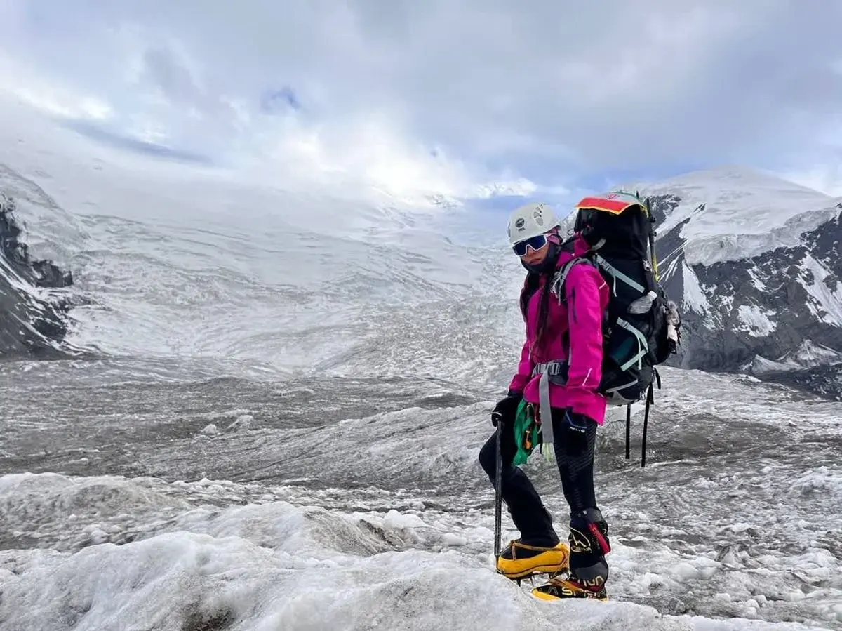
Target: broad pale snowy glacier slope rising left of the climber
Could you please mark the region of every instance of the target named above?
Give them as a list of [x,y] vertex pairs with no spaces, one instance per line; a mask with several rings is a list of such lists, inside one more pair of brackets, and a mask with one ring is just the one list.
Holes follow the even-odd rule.
[[509,355],[489,325],[517,327],[497,293],[516,291],[520,268],[474,244],[502,225],[377,192],[162,165],[49,126],[3,133],[0,190],[19,199],[33,251],[72,270],[74,345],[274,375],[478,380],[477,344]]

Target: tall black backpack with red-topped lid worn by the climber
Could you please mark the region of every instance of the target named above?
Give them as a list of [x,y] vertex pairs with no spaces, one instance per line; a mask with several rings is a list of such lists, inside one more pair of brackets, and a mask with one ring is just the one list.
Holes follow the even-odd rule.
[[577,206],[574,230],[590,250],[559,271],[558,293],[573,265],[589,262],[608,283],[610,301],[603,322],[600,393],[609,405],[626,405],[626,458],[632,403],[646,400],[641,466],[646,464],[646,430],[656,366],[677,352],[681,325],[678,307],[659,282],[655,231],[649,200],[623,191],[585,197]]

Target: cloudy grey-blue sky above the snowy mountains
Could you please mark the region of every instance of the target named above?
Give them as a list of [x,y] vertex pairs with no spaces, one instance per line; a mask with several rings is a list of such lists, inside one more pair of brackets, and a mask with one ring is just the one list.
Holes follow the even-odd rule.
[[740,163],[842,195],[840,24],[836,0],[0,0],[0,91],[302,179],[561,194]]

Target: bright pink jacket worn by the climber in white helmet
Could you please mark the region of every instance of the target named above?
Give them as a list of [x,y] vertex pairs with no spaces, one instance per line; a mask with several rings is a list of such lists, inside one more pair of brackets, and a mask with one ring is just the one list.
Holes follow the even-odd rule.
[[[584,253],[587,245],[576,242],[576,253]],[[557,267],[561,268],[572,254],[562,252]],[[593,265],[573,265],[564,283],[566,302],[558,303],[549,295],[549,311],[541,340],[536,340],[541,292],[552,282],[552,274],[542,274],[539,286],[526,309],[526,340],[520,354],[518,372],[509,384],[509,391],[523,393],[525,400],[539,404],[540,375],[532,376],[536,363],[568,361],[566,385],[550,383],[550,404],[553,408],[571,408],[598,424],[605,423],[605,397],[596,392],[602,379],[602,318],[608,307],[609,288]]]

